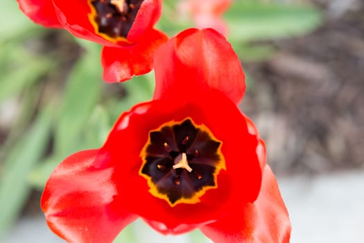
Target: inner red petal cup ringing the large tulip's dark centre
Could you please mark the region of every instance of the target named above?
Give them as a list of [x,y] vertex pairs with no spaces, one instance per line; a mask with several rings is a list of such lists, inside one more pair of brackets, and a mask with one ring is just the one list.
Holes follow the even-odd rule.
[[[187,117],[196,124],[205,124],[223,142],[227,170],[220,171],[218,188],[207,190],[200,203],[171,207],[148,192],[146,179],[139,176],[142,164],[139,155],[149,131],[167,121],[182,121]],[[182,233],[190,230],[191,225],[194,228],[207,224],[257,199],[261,183],[258,142],[259,138],[248,132],[245,117],[236,105],[221,92],[210,90],[198,101],[157,100],[135,106],[116,122],[101,150],[110,154],[119,192],[132,198],[122,201],[123,208],[149,223],[153,221],[150,225],[159,232]]]

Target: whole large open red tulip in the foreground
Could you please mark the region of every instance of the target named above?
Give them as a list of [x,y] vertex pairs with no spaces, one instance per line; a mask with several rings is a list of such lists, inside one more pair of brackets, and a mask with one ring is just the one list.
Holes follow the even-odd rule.
[[69,156],[42,195],[67,242],[112,242],[137,218],[214,242],[289,242],[291,224],[257,129],[237,103],[239,58],[214,30],[189,29],[155,53],[153,101],[124,112],[100,149]]

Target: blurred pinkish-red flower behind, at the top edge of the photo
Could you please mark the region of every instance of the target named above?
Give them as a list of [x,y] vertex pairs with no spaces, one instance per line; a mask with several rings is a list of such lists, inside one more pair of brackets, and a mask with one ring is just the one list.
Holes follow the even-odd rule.
[[180,3],[182,12],[189,12],[197,28],[214,28],[227,35],[227,24],[222,15],[232,4],[232,0],[184,0]]

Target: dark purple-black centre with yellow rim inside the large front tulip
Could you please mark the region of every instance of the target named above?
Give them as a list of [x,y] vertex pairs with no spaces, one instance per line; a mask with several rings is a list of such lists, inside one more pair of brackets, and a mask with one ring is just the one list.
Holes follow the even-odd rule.
[[191,118],[169,121],[150,131],[139,174],[147,179],[149,192],[170,206],[198,203],[217,187],[220,169],[225,169],[221,145],[207,126]]

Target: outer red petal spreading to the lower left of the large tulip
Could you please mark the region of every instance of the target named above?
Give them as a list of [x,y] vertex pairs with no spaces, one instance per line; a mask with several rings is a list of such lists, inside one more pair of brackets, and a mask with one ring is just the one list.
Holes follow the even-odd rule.
[[74,153],[55,168],[42,194],[49,227],[67,242],[112,242],[137,216],[114,201],[113,169],[94,167],[98,149]]

